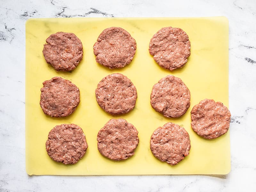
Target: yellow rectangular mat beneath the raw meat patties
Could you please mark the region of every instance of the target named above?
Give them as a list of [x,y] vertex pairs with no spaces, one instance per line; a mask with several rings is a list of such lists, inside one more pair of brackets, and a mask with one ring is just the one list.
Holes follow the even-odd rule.
[[[137,42],[132,62],[121,69],[108,69],[95,61],[93,44],[103,29],[126,29]],[[148,52],[151,37],[163,27],[182,28],[191,42],[191,56],[180,69],[159,67]],[[56,72],[42,54],[45,39],[58,31],[75,33],[81,39],[84,57],[72,72]],[[137,88],[135,108],[126,115],[111,116],[95,99],[98,82],[112,73],[122,73]],[[152,86],[167,75],[180,77],[191,92],[191,105],[180,118],[166,118],[150,105]],[[81,102],[65,118],[46,116],[40,108],[42,83],[60,76],[76,84]],[[26,23],[26,170],[29,175],[164,175],[227,174],[230,171],[229,131],[220,138],[206,140],[190,126],[190,111],[205,98],[228,106],[228,20],[205,18],[58,18],[29,19]],[[116,162],[100,155],[97,133],[111,118],[124,118],[139,131],[140,143],[135,155]],[[171,166],[155,158],[149,146],[150,136],[158,126],[173,122],[184,127],[191,140],[190,154]],[[46,153],[48,132],[59,124],[77,124],[86,136],[88,150],[76,164],[53,161]]]

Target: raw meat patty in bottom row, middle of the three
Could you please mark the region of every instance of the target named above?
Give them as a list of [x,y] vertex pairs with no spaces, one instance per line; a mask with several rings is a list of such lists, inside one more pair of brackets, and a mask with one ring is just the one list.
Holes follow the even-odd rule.
[[100,154],[120,161],[134,155],[139,144],[137,129],[124,119],[110,119],[97,136]]

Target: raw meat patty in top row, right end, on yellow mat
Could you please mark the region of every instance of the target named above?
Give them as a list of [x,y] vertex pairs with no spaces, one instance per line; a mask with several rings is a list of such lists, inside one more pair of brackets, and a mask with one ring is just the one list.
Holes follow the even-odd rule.
[[162,28],[151,38],[149,53],[163,68],[181,68],[190,55],[188,35],[180,28]]

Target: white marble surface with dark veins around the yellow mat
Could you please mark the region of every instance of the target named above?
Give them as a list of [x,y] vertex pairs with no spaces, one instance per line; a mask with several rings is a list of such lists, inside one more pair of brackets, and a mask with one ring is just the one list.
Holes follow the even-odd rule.
[[[229,20],[231,172],[224,176],[28,176],[25,21],[41,17],[198,17]],[[0,192],[253,191],[256,188],[256,1],[0,1]]]

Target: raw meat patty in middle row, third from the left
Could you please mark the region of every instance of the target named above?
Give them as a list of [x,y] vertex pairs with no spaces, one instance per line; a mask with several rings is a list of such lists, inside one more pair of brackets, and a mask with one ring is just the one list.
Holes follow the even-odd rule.
[[190,91],[180,78],[169,75],[153,86],[150,99],[157,112],[166,117],[180,117],[190,106]]

